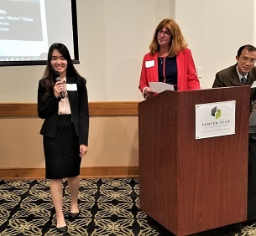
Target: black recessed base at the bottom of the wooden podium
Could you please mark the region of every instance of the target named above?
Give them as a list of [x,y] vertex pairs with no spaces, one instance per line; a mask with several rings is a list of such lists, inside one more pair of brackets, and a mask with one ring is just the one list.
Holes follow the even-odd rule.
[[[156,222],[154,218],[147,216],[147,221],[161,236],[175,236],[174,233],[171,233],[167,228]],[[189,234],[187,236],[233,236],[237,233],[241,233],[241,231],[242,223],[233,223],[220,228],[213,228],[200,233]]]

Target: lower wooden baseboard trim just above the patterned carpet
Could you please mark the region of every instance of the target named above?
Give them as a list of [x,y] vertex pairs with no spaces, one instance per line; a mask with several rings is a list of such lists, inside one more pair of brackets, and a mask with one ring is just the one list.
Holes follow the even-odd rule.
[[[138,167],[81,167],[81,178],[120,178],[138,177]],[[9,179],[43,179],[42,168],[1,168],[0,180]]]

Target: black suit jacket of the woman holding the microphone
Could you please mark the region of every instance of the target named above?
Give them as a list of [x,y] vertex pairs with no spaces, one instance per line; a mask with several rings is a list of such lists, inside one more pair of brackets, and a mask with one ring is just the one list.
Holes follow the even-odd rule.
[[[71,116],[76,135],[79,136],[79,143],[88,146],[89,111],[86,80],[79,76],[67,77],[66,84],[76,84],[77,86],[76,91],[67,90],[71,105]],[[39,118],[44,119],[44,123],[40,134],[54,138],[57,134],[60,98],[57,99],[52,90],[50,97],[44,100],[45,90],[44,80],[41,79],[38,88],[38,115]]]

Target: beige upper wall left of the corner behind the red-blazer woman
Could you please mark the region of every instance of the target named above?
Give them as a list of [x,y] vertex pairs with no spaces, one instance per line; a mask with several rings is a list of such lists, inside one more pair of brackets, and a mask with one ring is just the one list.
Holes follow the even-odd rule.
[[[138,80],[159,20],[175,0],[76,0],[81,64],[89,101],[143,100]],[[65,17],[65,16],[64,16]],[[0,67],[0,102],[36,102],[44,66]]]

